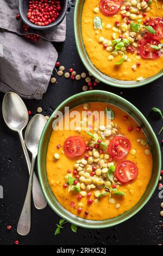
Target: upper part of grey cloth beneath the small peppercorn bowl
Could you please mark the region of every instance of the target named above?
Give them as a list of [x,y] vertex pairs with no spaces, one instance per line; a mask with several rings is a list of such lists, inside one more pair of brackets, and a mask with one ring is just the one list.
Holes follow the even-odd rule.
[[63,42],[66,36],[66,18],[59,26],[38,31],[30,28],[28,32],[23,30],[23,22],[16,19],[18,13],[18,0],[0,0],[0,28],[15,32],[19,35],[39,34],[43,39],[52,42]]

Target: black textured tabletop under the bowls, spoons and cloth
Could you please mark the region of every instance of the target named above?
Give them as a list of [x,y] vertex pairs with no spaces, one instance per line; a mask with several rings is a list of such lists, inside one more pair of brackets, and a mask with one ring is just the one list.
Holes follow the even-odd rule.
[[[80,74],[85,71],[79,59],[73,33],[74,1],[69,1],[67,12],[67,35],[63,44],[56,44],[59,52],[59,61],[66,70],[74,68]],[[55,74],[54,74],[55,76]],[[43,114],[50,115],[59,103],[67,97],[82,92],[84,81],[66,80],[57,77],[57,84],[50,84],[42,100],[26,100],[27,108],[34,114],[37,107],[43,108]],[[162,106],[163,77],[136,89],[118,89],[105,84],[99,84],[97,89],[121,95],[133,103],[151,123],[154,131],[158,133],[161,120],[152,119],[149,114],[151,108]],[[4,94],[0,94],[2,105]],[[160,203],[158,189],[147,205],[130,220],[113,228],[104,230],[86,230],[79,228],[78,233],[71,231],[70,224],[65,225],[60,235],[54,236],[57,216],[49,206],[44,210],[36,210],[32,204],[32,229],[26,237],[21,237],[16,232],[16,225],[21,213],[28,182],[26,161],[24,160],[20,141],[17,133],[12,132],[4,124],[2,107],[0,113],[0,185],[4,188],[4,199],[0,199],[0,245],[13,245],[15,240],[20,240],[21,245],[157,245],[163,243],[161,227],[163,218],[160,217]],[[163,110],[163,109],[162,109]],[[163,133],[162,133],[163,136]],[[161,143],[162,136],[159,136]],[[12,225],[12,230],[7,230],[7,225]]]

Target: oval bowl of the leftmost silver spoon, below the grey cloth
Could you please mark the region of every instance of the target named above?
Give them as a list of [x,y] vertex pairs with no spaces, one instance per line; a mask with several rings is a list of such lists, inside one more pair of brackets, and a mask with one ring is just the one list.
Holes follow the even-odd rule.
[[21,97],[14,92],[4,95],[2,113],[5,123],[13,131],[21,131],[28,123],[27,107]]

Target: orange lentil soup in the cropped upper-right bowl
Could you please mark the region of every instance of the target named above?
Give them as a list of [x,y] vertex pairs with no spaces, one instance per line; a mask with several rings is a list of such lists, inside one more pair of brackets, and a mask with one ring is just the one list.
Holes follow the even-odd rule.
[[91,62],[117,80],[142,81],[157,74],[162,70],[162,0],[113,2],[85,0],[82,36]]

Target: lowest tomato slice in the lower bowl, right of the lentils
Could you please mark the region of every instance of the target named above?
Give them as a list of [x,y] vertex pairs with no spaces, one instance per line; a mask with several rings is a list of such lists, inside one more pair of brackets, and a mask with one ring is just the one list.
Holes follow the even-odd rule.
[[119,163],[115,170],[117,179],[123,183],[136,179],[138,173],[139,170],[136,164],[130,161],[123,161]]

